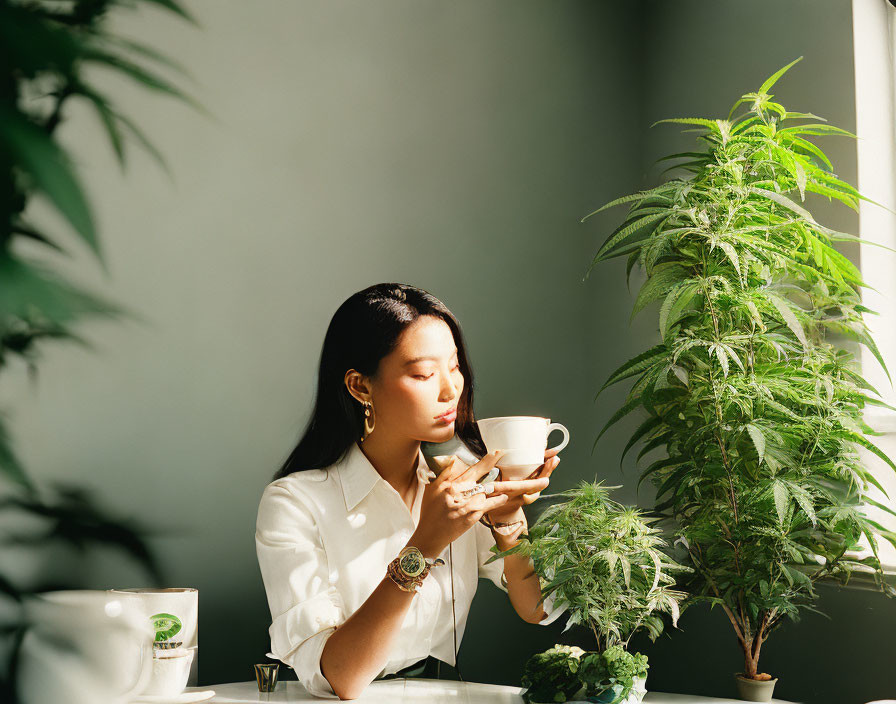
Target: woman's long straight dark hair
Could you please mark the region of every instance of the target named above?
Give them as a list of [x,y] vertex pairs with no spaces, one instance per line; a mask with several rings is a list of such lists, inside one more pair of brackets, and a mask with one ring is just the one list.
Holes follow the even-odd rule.
[[375,376],[380,360],[395,349],[401,333],[423,315],[441,318],[451,328],[464,375],[455,434],[477,456],[485,455],[485,444],[473,420],[473,370],[457,318],[423,289],[407,284],[375,284],[351,295],[333,314],[320,353],[311,419],[274,479],[328,467],[343,458],[364,429],[364,408],[348,392],[345,373],[355,369],[365,376]]

